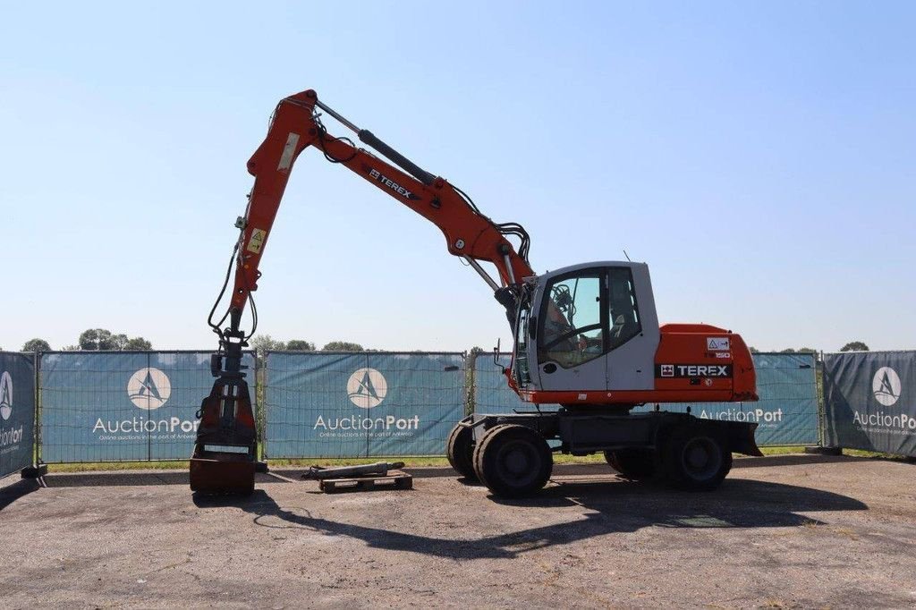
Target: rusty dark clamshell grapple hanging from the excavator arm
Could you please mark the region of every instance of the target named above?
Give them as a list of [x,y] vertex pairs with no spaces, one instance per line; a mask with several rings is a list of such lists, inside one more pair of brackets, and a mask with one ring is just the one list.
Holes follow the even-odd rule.
[[248,384],[223,374],[203,399],[191,456],[191,491],[251,494],[255,490],[257,436]]

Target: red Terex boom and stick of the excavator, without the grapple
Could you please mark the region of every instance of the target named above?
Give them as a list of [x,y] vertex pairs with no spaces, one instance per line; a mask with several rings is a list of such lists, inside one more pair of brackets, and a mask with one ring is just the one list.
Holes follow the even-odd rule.
[[[348,139],[329,135],[317,109],[324,110],[353,129],[361,141],[390,158],[401,169],[354,146]],[[528,236],[518,224],[494,223],[447,180],[420,169],[371,132],[357,128],[319,102],[318,96],[310,90],[292,95],[278,104],[267,138],[248,161],[248,172],[255,176],[255,186],[245,218],[240,222],[243,235],[235,270],[232,309],[244,309],[245,300],[257,288],[257,269],[289,180],[289,172],[300,153],[308,147],[317,148],[328,160],[344,165],[434,223],[445,236],[449,252],[472,263],[478,272],[483,271],[478,261],[493,263],[499,283],[485,273],[482,275],[495,291],[534,275],[527,260]],[[522,239],[522,254],[509,242],[507,234],[516,234]]]

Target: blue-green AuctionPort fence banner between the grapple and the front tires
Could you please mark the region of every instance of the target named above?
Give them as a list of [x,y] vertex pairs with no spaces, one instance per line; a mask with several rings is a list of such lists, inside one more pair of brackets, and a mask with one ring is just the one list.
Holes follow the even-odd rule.
[[463,354],[267,354],[270,458],[442,455],[463,417]]

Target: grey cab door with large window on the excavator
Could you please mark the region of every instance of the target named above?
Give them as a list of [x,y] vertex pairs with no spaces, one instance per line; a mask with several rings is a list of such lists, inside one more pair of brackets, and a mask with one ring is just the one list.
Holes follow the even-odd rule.
[[535,324],[540,389],[607,389],[605,342],[609,329],[605,267],[545,278]]

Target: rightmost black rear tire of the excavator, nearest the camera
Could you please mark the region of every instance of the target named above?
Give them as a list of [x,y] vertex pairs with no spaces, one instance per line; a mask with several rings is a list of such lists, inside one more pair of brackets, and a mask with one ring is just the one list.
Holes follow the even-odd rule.
[[685,491],[712,491],[732,469],[732,453],[709,426],[692,424],[671,430],[660,451],[665,477]]

